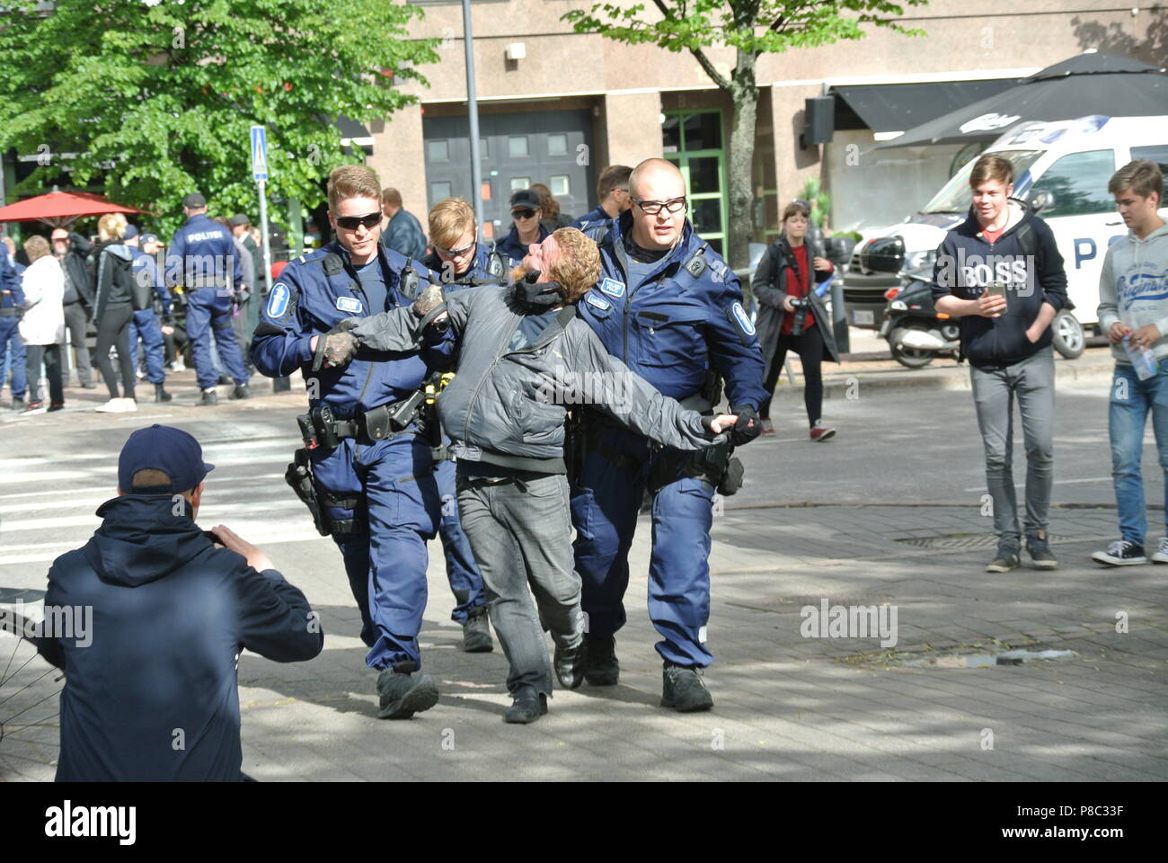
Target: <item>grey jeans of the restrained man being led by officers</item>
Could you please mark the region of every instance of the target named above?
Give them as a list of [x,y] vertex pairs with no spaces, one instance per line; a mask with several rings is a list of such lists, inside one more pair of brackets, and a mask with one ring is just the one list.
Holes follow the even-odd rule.
[[559,648],[575,648],[584,637],[566,477],[496,482],[460,470],[458,512],[482,572],[491,622],[510,663],[507,691],[514,696],[534,688],[550,696],[543,630],[551,631]]

